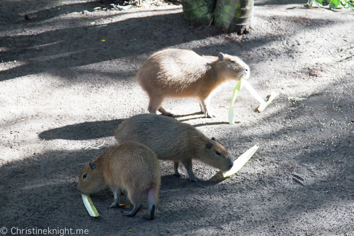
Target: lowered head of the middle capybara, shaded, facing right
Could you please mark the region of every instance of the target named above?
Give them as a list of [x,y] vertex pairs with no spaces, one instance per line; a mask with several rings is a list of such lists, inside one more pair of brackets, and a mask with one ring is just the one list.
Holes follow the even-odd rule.
[[223,145],[217,143],[215,138],[205,142],[204,147],[197,151],[196,158],[223,171],[230,170],[234,165],[226,149]]

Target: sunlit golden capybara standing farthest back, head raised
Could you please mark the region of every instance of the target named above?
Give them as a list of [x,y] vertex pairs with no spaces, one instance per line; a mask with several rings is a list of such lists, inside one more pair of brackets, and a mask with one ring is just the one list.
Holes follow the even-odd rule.
[[250,75],[249,67],[238,57],[219,53],[218,57],[199,56],[191,50],[166,49],[150,56],[139,69],[137,82],[150,98],[148,110],[173,114],[161,107],[165,98],[194,97],[205,117],[210,93],[220,84]]

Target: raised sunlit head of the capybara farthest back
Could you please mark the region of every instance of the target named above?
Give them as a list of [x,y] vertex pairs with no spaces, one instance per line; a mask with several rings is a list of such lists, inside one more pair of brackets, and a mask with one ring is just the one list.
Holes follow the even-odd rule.
[[248,79],[250,75],[249,67],[240,58],[228,54],[219,53],[218,70],[228,79],[240,81],[241,78]]

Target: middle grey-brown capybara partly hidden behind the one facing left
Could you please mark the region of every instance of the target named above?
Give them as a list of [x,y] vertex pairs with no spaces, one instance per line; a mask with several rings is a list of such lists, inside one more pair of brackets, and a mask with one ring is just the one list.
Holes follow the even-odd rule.
[[207,138],[192,125],[168,116],[140,114],[130,117],[119,124],[115,138],[120,144],[137,141],[151,148],[158,159],[173,161],[177,176],[181,176],[179,166],[182,162],[190,181],[201,181],[193,174],[192,159],[220,170],[230,170],[234,164],[226,149],[214,138]]

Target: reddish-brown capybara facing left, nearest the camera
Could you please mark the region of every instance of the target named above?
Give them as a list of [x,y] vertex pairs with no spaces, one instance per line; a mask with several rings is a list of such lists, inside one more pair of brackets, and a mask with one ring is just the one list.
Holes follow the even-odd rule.
[[114,203],[119,206],[119,194],[126,190],[134,205],[126,216],[135,216],[142,206],[142,194],[148,195],[148,219],[154,219],[155,203],[161,183],[160,164],[156,154],[143,144],[127,141],[108,148],[96,160],[90,162],[81,172],[77,190],[81,194],[93,194],[111,187]]

